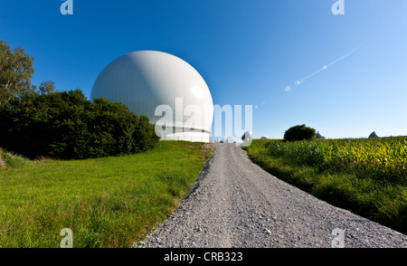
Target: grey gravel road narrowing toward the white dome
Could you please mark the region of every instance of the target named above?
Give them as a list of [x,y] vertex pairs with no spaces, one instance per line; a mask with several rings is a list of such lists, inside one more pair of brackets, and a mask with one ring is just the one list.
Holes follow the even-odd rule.
[[134,246],[405,248],[407,236],[271,176],[241,147],[216,144],[175,214]]

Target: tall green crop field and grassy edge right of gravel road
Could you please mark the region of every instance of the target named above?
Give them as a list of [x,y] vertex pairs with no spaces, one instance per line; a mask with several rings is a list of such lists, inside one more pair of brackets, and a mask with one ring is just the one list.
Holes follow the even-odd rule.
[[[255,139],[246,150],[255,164],[289,184],[407,233],[405,143],[405,138],[296,143]],[[384,146],[388,150],[377,150]],[[368,147],[372,149],[361,151]]]

